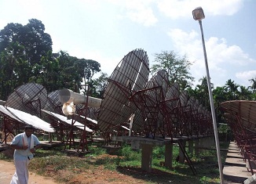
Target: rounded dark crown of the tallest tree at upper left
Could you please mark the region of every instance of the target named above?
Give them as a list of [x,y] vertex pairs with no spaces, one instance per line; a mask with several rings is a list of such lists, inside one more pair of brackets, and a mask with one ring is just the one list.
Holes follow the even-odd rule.
[[45,33],[45,26],[40,20],[28,20],[27,25],[20,23],[8,23],[0,31],[0,52],[17,42],[24,46],[24,54],[28,62],[33,66],[45,56],[48,51],[52,51],[52,39]]

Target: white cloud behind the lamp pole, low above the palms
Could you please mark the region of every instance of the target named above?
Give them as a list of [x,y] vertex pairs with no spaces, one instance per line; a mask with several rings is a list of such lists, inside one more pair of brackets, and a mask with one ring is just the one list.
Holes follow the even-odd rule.
[[[199,34],[196,31],[185,32],[180,29],[170,30],[167,34],[177,52],[188,56],[191,62],[195,62],[191,67],[191,73],[196,78],[196,82],[206,76],[203,45]],[[254,72],[247,74],[240,72],[240,70],[249,70],[256,60],[251,59],[239,46],[228,45],[225,38],[216,37],[205,40],[205,44],[210,76],[213,81],[222,81],[222,84],[214,85],[224,85],[229,78],[240,84],[253,77]],[[246,84],[248,85],[248,82]]]

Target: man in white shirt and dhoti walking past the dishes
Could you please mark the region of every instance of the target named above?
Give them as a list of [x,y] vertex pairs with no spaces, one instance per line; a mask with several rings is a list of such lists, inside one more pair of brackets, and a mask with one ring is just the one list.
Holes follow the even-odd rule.
[[13,160],[16,171],[10,184],[27,184],[28,183],[28,164],[33,158],[35,150],[40,148],[38,138],[32,134],[33,126],[25,126],[25,132],[16,135],[11,143],[14,150]]

